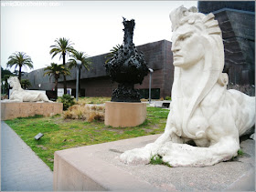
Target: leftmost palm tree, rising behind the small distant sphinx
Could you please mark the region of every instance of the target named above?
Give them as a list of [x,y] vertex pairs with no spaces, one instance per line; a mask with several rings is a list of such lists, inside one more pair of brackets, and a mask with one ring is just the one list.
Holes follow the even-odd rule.
[[28,66],[30,69],[33,68],[33,62],[31,60],[31,57],[27,56],[26,53],[24,52],[16,52],[12,56],[9,56],[8,59],[9,59],[7,62],[8,67],[12,67],[12,66],[19,67],[18,68],[19,81],[21,80],[21,67],[25,66],[27,68]]

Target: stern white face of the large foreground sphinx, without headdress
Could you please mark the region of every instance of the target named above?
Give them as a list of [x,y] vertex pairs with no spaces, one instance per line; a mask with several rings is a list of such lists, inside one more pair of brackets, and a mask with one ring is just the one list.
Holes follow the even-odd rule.
[[173,33],[172,51],[174,66],[188,68],[204,58],[204,38],[194,25],[184,24]]

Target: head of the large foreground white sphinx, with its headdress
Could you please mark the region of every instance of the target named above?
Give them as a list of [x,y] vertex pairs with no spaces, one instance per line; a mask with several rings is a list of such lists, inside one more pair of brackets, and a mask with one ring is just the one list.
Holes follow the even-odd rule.
[[196,7],[187,9],[180,6],[171,12],[170,19],[174,66],[189,67],[204,60],[204,69],[213,67],[222,71],[224,49],[219,23],[214,20],[214,15],[197,13]]

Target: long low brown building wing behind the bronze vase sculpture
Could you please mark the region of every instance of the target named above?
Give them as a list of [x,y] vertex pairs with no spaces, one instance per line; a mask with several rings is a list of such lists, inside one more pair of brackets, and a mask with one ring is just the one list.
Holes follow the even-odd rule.
[[[138,51],[143,52],[144,60],[149,68],[154,70],[152,75],[152,98],[171,96],[174,66],[171,51],[172,43],[166,40],[157,41],[145,45],[136,46]],[[112,83],[106,74],[105,63],[108,54],[91,57],[91,70],[81,70],[81,96],[112,96],[112,90],[117,87]],[[71,75],[67,76],[67,86],[72,89],[72,95],[76,93],[76,68],[70,71]],[[25,75],[32,86],[30,89],[53,90],[54,78],[43,76],[44,69],[37,69]],[[40,87],[38,86],[40,84]],[[63,87],[63,78],[59,79],[59,88]],[[142,98],[148,97],[149,75],[144,77],[142,85],[135,85],[139,89]]]

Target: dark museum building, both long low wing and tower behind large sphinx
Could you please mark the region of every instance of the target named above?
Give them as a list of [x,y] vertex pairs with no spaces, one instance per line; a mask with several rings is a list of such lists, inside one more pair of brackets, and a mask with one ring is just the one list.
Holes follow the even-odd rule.
[[[229,83],[238,85],[255,85],[255,3],[254,2],[198,2],[198,11],[204,14],[213,13],[219,21],[225,48],[225,66],[223,72],[228,73]],[[152,74],[152,98],[171,96],[174,79],[172,43],[161,40],[136,46],[143,52],[144,60]],[[81,96],[112,96],[117,87],[106,74],[103,66],[107,54],[91,57],[90,71],[81,70]],[[67,87],[71,95],[76,93],[76,68],[67,76]],[[54,78],[43,76],[44,69],[32,71],[27,78],[32,86],[29,89],[47,90],[47,95],[54,95]],[[40,85],[40,86],[38,86]],[[63,87],[63,77],[59,79],[59,88]],[[149,75],[144,77],[142,85],[135,85],[142,98],[148,98]]]

